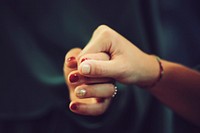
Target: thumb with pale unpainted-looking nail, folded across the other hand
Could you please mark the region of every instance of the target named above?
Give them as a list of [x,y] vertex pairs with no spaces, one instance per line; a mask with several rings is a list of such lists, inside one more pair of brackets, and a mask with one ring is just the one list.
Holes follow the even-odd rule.
[[118,70],[113,60],[86,60],[82,62],[78,71],[80,74],[87,77],[110,77],[115,78],[118,75]]

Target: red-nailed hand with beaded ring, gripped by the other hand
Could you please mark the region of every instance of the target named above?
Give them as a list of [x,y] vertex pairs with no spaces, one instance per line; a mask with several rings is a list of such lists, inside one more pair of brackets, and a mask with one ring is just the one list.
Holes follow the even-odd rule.
[[[113,79],[89,78],[80,75],[76,57],[81,49],[72,49],[66,54],[64,75],[70,92],[71,111],[82,115],[100,115],[108,108],[114,94]],[[90,54],[90,60],[109,60],[107,54]]]

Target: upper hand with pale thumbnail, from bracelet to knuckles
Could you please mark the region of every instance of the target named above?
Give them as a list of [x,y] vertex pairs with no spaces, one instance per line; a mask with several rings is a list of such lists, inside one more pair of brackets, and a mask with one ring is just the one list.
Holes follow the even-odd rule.
[[[110,60],[87,60],[90,54],[105,52]],[[159,65],[155,57],[150,56],[125,39],[111,28],[98,27],[78,56],[79,73],[87,77],[111,77],[121,83],[148,86],[155,82],[159,74]]]

